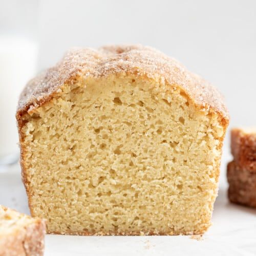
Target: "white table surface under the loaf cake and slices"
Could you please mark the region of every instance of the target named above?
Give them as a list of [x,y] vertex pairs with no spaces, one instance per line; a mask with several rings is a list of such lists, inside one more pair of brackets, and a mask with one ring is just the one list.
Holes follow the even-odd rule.
[[[226,163],[222,159],[219,196],[212,226],[201,240],[191,236],[82,237],[46,235],[45,255],[256,255],[256,209],[227,200]],[[18,165],[0,172],[0,204],[29,214]]]

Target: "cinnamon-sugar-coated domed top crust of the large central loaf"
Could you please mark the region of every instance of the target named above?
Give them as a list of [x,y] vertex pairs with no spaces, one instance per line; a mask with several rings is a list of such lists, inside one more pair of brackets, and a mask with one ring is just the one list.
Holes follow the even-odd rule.
[[72,48],[53,68],[28,82],[20,95],[17,114],[34,108],[51,97],[63,83],[83,76],[107,76],[112,73],[137,73],[175,84],[203,108],[219,113],[225,123],[228,111],[223,96],[207,81],[190,73],[177,60],[151,47],[141,45]]

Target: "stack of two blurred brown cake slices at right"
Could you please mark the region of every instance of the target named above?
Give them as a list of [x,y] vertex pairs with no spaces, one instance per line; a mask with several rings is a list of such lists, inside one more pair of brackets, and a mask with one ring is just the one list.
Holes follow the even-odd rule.
[[227,165],[230,202],[256,207],[256,129],[231,130],[231,153]]

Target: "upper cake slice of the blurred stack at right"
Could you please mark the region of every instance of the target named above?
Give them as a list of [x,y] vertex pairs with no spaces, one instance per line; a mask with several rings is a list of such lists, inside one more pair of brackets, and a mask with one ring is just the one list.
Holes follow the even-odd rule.
[[231,153],[240,169],[256,171],[256,128],[232,129]]

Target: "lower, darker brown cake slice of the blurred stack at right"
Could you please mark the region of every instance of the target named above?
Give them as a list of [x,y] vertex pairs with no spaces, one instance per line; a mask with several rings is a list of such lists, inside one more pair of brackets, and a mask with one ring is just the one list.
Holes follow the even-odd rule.
[[232,203],[256,207],[256,172],[232,161],[227,165],[228,198]]

